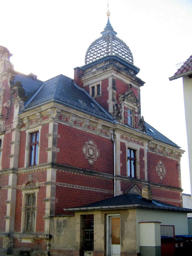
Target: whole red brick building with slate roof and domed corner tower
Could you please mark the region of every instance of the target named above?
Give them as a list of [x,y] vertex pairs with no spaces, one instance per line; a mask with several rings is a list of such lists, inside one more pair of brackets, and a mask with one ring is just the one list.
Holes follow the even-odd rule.
[[109,19],[101,34],[74,79],[16,72],[0,46],[1,253],[50,255],[50,216],[143,185],[182,206],[183,150],[141,116],[140,69]]

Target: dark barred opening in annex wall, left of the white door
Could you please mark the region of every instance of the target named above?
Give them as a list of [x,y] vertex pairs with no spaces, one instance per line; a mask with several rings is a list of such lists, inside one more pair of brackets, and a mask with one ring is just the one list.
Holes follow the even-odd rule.
[[93,215],[85,215],[83,222],[83,250],[93,251],[94,248],[94,219]]

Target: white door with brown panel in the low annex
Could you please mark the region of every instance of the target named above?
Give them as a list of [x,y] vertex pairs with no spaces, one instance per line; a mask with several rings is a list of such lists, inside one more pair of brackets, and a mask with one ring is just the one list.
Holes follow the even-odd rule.
[[121,253],[121,230],[120,216],[108,216],[108,256],[120,256]]

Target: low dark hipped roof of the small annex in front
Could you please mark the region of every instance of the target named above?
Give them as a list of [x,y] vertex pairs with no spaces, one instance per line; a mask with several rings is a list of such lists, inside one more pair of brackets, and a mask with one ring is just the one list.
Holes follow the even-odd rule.
[[179,212],[192,212],[191,209],[177,207],[172,204],[166,204],[157,200],[147,200],[138,194],[126,193],[120,196],[111,197],[92,204],[86,204],[74,208],[63,209],[64,211],[86,211],[86,210],[101,210],[101,209],[124,209],[124,208],[147,208]]

